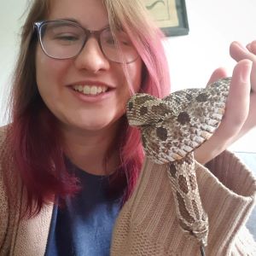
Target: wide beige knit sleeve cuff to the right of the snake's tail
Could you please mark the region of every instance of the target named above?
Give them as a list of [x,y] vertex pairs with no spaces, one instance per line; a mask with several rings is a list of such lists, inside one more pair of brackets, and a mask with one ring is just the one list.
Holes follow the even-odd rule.
[[198,164],[196,174],[201,200],[209,217],[208,250],[216,251],[216,255],[221,255],[221,251],[230,255],[235,247],[240,247],[244,252],[249,241],[247,249],[255,249],[255,242],[250,239],[252,236],[247,236],[248,231],[245,231],[245,224],[255,205],[256,180],[253,173],[229,151],[224,151],[206,166]]

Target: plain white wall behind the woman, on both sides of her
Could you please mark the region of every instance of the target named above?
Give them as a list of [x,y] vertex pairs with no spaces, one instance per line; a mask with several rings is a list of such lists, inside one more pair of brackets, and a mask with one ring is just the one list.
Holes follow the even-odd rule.
[[[0,0],[0,125],[6,122],[3,106],[15,65],[26,2]],[[226,67],[231,74],[235,61],[229,56],[230,42],[237,40],[247,44],[256,39],[256,0],[187,0],[186,4],[189,36],[170,38],[166,49],[172,90],[205,86],[217,67]],[[250,132],[232,149],[256,152],[252,141],[256,142],[256,131]]]

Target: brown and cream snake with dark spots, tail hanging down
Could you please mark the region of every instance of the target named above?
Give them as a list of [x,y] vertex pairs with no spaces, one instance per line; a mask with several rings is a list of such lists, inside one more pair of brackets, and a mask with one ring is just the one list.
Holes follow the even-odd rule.
[[205,255],[209,223],[196,180],[194,151],[221,123],[230,80],[177,90],[162,99],[136,93],[126,105],[129,125],[141,131],[146,157],[166,165],[178,223],[199,242],[201,255]]

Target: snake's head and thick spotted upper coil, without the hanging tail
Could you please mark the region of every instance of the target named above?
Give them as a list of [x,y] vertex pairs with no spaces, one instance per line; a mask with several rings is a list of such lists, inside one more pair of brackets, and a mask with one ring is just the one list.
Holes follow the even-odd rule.
[[180,160],[212,136],[224,115],[230,78],[205,89],[179,90],[158,99],[136,94],[127,103],[130,125],[142,130],[145,153],[163,164]]

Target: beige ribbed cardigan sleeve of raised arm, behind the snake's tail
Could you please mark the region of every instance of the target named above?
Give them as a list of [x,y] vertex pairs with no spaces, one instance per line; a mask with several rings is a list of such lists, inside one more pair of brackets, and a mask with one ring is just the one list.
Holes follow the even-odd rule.
[[[253,255],[255,242],[242,233],[255,202],[252,173],[229,152],[209,162],[209,169],[195,167],[209,218],[206,254]],[[179,228],[165,165],[145,159],[134,193],[116,221],[111,255],[200,255],[195,239]]]

